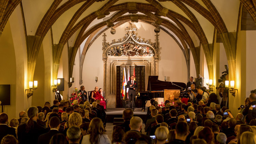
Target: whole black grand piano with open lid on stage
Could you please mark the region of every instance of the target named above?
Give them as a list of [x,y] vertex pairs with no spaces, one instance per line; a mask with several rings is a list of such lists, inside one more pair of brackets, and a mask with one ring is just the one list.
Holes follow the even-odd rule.
[[158,80],[158,76],[148,76],[147,91],[140,91],[137,100],[148,101],[157,97],[164,97],[164,90],[181,90],[186,88],[185,83],[165,82]]

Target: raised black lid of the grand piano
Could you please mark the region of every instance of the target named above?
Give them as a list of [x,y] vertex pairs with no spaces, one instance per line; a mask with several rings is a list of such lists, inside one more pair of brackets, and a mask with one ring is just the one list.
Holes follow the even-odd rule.
[[147,83],[147,91],[160,91],[160,90],[165,90],[165,89],[170,89],[170,90],[181,90],[182,88],[175,86],[178,85],[182,88],[186,88],[185,83],[180,83],[180,82],[165,82],[158,80],[158,76],[148,76],[148,83]]

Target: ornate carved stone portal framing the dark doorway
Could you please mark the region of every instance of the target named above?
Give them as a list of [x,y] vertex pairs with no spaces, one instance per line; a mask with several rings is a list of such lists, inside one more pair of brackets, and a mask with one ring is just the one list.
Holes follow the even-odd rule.
[[[106,42],[106,34],[103,34],[102,60],[104,63],[104,90],[110,101],[108,107],[116,106],[116,66],[145,66],[145,80],[149,75],[158,75],[158,34],[155,42],[143,40],[134,34],[136,28],[125,28],[127,33],[118,41]],[[147,85],[147,83],[146,83]],[[147,87],[147,86],[146,86]]]

